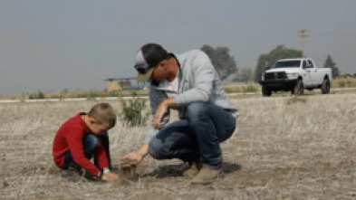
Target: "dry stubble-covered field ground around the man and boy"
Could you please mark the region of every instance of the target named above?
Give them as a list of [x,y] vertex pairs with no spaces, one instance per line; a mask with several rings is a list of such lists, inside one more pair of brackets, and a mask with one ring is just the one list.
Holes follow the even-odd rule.
[[[179,160],[146,157],[138,182],[61,176],[52,157],[62,123],[98,100],[0,104],[0,199],[356,199],[356,94],[233,97],[236,132],[221,145],[224,176],[190,186]],[[120,112],[119,100],[107,100]],[[114,166],[148,127],[110,131]]]

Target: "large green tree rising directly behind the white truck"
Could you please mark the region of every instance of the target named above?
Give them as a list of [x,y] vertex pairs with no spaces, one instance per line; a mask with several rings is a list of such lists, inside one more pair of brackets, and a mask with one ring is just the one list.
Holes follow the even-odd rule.
[[261,73],[271,67],[277,60],[298,57],[302,57],[302,51],[287,49],[283,44],[278,45],[269,53],[261,54],[258,58],[257,66],[255,67],[255,81],[258,81]]

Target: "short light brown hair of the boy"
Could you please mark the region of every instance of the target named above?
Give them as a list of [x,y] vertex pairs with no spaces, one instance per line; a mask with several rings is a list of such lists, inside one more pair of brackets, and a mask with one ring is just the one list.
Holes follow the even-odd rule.
[[116,124],[116,113],[109,103],[95,104],[88,112],[88,117],[95,119],[98,124],[108,123],[111,128]]

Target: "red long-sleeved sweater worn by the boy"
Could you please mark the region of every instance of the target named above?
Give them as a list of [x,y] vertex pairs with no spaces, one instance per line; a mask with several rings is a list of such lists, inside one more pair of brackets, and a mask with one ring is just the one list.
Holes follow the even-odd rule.
[[[53,159],[58,167],[63,167],[64,156],[67,151],[71,151],[74,161],[87,170],[91,175],[99,174],[100,169],[96,167],[88,158],[85,157],[82,139],[85,135],[91,133],[91,130],[82,120],[82,112],[67,120],[58,130],[53,141]],[[98,136],[101,141],[101,137]],[[103,148],[102,141],[99,148],[95,151],[95,157],[98,157],[99,166],[102,168],[109,167],[109,161]]]

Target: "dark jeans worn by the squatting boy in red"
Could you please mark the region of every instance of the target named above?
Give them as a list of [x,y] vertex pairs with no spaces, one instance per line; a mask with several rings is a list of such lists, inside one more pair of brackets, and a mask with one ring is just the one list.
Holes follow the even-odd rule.
[[[102,140],[102,144],[105,149],[106,156],[108,157],[108,160],[109,160],[109,167],[111,168],[111,156],[110,156],[110,150],[109,150],[109,135],[108,135],[108,133],[101,135],[101,140]],[[91,157],[95,153],[96,148],[98,148],[100,146],[101,142],[100,142],[100,139],[97,136],[95,136],[94,134],[88,134],[82,139],[82,144],[84,146],[85,157],[87,157],[88,159],[91,159]],[[65,157],[64,157],[63,169],[68,169],[72,163],[74,163],[74,160],[72,158],[72,153],[71,153],[71,151],[67,151],[67,153],[65,154]],[[96,167],[99,167],[96,157],[94,157],[94,164]]]

